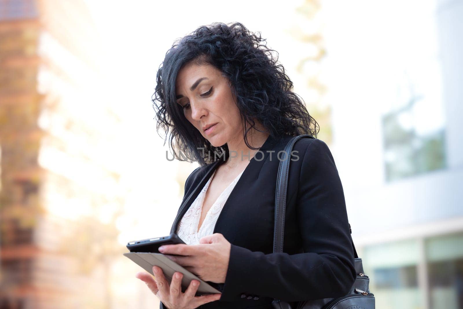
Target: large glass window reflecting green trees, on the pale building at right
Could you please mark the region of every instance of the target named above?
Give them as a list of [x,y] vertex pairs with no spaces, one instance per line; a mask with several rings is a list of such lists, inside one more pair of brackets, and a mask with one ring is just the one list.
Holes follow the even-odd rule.
[[[391,35],[390,42],[398,50],[388,59],[381,94],[387,102],[381,108],[388,182],[447,166],[437,5],[437,1],[417,1],[394,20],[394,29],[400,31]],[[408,15],[413,15],[413,25],[405,18]]]

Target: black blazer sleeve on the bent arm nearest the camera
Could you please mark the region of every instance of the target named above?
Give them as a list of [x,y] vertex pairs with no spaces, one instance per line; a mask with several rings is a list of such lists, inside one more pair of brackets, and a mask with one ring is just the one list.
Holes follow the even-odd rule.
[[303,155],[296,212],[304,253],[264,254],[232,244],[220,301],[243,293],[292,302],[349,292],[356,271],[344,192],[322,140],[310,140]]

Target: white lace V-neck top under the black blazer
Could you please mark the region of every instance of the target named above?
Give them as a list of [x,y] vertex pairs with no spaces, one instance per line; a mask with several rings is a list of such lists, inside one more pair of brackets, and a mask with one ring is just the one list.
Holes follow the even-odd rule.
[[207,188],[209,188],[209,184],[211,183],[211,180],[214,177],[214,170],[212,176],[204,185],[200,194],[196,197],[194,202],[191,204],[190,208],[188,208],[187,212],[183,215],[181,221],[177,226],[176,234],[181,238],[181,240],[183,240],[187,245],[198,245],[202,237],[213,234],[215,223],[219,218],[219,214],[222,211],[222,208],[224,207],[225,202],[228,199],[228,196],[232,192],[233,188],[239,180],[239,177],[241,177],[241,174],[243,174],[243,172],[244,170],[219,195],[217,200],[214,202],[214,204],[207,212],[206,217],[204,218],[204,221],[198,231],[198,225],[200,221],[204,197],[206,196]]

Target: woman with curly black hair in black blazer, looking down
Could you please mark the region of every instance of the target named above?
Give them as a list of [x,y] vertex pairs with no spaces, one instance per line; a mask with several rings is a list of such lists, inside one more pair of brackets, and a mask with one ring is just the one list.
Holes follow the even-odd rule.
[[181,273],[168,282],[155,266],[156,280],[137,277],[160,308],[273,308],[273,298],[343,296],[355,281],[343,188],[319,139],[294,145],[284,253],[272,253],[278,151],[293,136],[316,136],[317,123],[262,41],[240,23],[202,26],[158,70],[157,128],[171,130],[176,158],[200,163],[171,230],[187,245],[160,251],[222,292],[195,297],[193,280],[182,293]]

